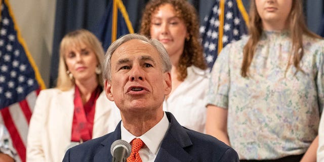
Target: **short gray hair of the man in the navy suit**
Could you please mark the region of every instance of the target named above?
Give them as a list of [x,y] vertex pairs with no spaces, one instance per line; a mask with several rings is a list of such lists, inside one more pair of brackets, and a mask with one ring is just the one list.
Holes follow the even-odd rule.
[[168,55],[167,50],[164,48],[164,46],[157,41],[156,39],[149,39],[144,35],[140,35],[140,34],[126,34],[124,36],[121,36],[120,38],[118,38],[115,42],[113,42],[108,50],[107,53],[105,55],[105,59],[104,59],[104,67],[103,67],[103,79],[104,80],[111,80],[111,56],[112,54],[115,52],[115,50],[122,44],[132,40],[132,39],[139,39],[141,41],[147,42],[150,45],[152,45],[158,52],[161,60],[162,60],[162,70],[163,72],[169,72],[171,71],[172,68],[172,64]]

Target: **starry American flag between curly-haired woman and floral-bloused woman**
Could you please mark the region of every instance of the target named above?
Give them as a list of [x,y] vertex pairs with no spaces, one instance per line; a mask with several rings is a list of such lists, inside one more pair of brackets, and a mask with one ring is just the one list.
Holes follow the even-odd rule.
[[241,0],[216,0],[204,20],[205,25],[200,26],[199,32],[211,69],[223,47],[247,34],[248,14]]

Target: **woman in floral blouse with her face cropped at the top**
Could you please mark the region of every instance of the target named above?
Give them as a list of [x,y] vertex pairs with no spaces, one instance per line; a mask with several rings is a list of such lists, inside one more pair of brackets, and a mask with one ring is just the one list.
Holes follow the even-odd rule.
[[250,35],[212,71],[206,131],[242,161],[313,161],[324,104],[324,41],[301,0],[251,1]]

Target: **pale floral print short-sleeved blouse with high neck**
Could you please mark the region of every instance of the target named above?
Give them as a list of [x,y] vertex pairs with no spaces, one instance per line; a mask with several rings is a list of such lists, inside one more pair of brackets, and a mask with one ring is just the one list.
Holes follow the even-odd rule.
[[248,38],[220,53],[209,104],[228,109],[227,133],[240,159],[303,154],[317,135],[324,104],[324,41],[303,36],[304,72],[296,73],[289,32],[263,31],[245,78],[240,69]]

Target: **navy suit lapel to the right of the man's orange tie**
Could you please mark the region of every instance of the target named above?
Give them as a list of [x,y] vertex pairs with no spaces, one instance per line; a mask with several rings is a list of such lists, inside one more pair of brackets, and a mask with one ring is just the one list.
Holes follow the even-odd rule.
[[192,145],[188,134],[171,113],[166,113],[170,128],[161,143],[155,161],[191,161],[192,158],[184,149]]

